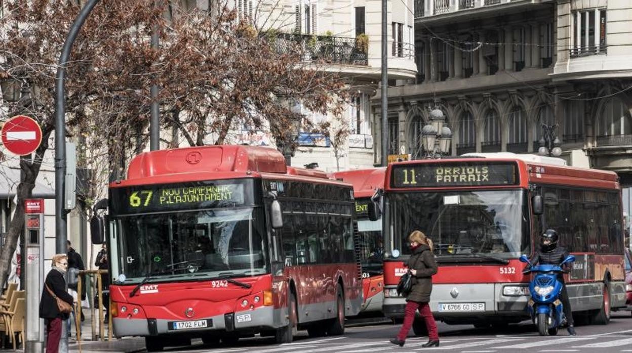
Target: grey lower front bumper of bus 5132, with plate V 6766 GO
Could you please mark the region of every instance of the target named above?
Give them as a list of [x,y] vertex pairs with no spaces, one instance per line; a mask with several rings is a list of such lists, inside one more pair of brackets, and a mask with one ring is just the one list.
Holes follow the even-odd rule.
[[[435,284],[432,286],[430,309],[435,320],[448,324],[528,320],[528,296],[504,296],[506,286],[526,287],[526,284]],[[401,319],[406,299],[392,296],[395,288],[391,285],[386,287],[385,292],[389,292],[385,293],[382,311],[387,318]]]

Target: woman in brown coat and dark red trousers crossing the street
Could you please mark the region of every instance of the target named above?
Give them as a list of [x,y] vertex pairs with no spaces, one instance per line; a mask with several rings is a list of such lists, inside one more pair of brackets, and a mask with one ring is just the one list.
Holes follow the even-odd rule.
[[412,254],[406,263],[408,271],[413,275],[413,287],[406,297],[404,309],[404,323],[396,338],[391,339],[392,344],[403,347],[408,331],[413,326],[415,311],[419,310],[428,329],[428,342],[422,347],[439,347],[439,333],[432,311],[430,311],[430,292],[432,292],[432,275],[437,273],[437,262],[432,253],[432,241],[420,230],[413,231],[408,236]]

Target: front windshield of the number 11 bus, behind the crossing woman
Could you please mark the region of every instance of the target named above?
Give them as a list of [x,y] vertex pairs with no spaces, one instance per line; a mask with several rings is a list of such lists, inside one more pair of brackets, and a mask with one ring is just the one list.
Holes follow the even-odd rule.
[[[514,258],[528,253],[526,191],[389,194],[393,248],[410,254],[408,235],[422,230],[444,258]],[[493,254],[493,255],[485,255]]]

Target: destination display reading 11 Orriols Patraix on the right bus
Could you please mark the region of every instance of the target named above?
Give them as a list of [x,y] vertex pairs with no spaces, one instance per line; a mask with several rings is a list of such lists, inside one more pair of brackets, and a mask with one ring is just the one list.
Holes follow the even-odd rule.
[[515,163],[461,162],[397,165],[392,168],[393,188],[515,185]]

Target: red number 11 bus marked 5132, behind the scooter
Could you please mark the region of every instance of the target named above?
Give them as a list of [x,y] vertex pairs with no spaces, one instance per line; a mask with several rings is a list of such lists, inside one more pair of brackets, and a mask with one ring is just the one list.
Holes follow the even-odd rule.
[[[530,277],[518,258],[533,254],[548,228],[577,259],[565,279],[578,321],[605,324],[612,308],[625,305],[623,208],[614,172],[513,153],[415,160],[388,166],[383,197],[387,317],[404,315],[396,285],[416,229],[435,244],[439,272],[430,308],[447,324],[528,320]],[[425,325],[415,322],[423,334]]]

